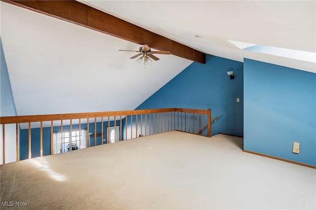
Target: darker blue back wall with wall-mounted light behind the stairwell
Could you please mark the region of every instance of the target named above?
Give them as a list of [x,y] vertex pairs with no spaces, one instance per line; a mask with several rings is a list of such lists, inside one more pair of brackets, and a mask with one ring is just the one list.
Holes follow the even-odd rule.
[[[234,71],[234,80],[227,71]],[[219,117],[212,123],[212,135],[223,132],[242,136],[243,63],[206,55],[206,64],[193,62],[136,109],[173,107],[211,108],[212,119]]]

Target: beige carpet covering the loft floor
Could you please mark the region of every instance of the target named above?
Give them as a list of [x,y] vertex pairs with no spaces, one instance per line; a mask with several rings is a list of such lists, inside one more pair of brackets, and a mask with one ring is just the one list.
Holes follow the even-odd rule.
[[170,131],[5,164],[1,209],[316,208],[315,169],[241,149]]

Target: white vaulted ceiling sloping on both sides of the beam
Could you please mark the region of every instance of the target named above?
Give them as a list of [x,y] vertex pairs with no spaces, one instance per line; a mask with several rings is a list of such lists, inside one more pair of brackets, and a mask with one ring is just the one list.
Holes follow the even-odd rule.
[[[315,62],[238,49],[228,40],[316,52],[316,1],[81,1],[206,54],[315,72]],[[133,110],[192,63],[5,2],[1,40],[18,115]],[[196,39],[195,35],[204,38]]]

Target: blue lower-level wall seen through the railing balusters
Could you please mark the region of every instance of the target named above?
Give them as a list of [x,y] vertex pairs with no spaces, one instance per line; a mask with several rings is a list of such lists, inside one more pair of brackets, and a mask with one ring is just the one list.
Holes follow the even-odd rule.
[[[116,121],[116,125],[118,126],[120,123],[119,120]],[[101,133],[101,122],[97,122],[97,133]],[[114,121],[110,121],[110,126],[114,126]],[[105,121],[103,122],[103,132],[104,132],[104,137],[106,139],[107,137],[107,127],[108,127],[108,122]],[[81,129],[86,129],[87,124],[82,123],[81,124]],[[43,156],[44,155],[49,155],[51,151],[51,132],[50,132],[50,127],[43,127]],[[79,124],[74,124],[72,126],[72,130],[78,130],[79,129]],[[63,125],[63,130],[70,130],[70,125]],[[54,126],[53,131],[61,131],[61,126]],[[88,133],[93,133],[94,134],[94,122],[89,123],[89,131]],[[90,138],[90,147],[95,146],[94,145],[94,137]],[[29,129],[21,129],[20,131],[20,160],[28,159],[29,158]],[[101,145],[101,136],[97,137],[97,143],[96,145]],[[40,156],[40,128],[32,128],[31,129],[31,153],[32,153],[32,158],[33,157],[39,157]]]

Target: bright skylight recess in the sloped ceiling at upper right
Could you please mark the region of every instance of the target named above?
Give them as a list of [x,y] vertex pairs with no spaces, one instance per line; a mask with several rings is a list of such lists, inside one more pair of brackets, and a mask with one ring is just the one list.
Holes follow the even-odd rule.
[[271,47],[266,45],[257,45],[252,43],[246,42],[239,42],[239,41],[232,41],[229,40],[231,43],[236,45],[241,50],[248,50],[257,53],[264,53],[274,56],[281,56],[284,58],[289,59],[296,59],[296,60],[304,60],[309,62],[316,63],[316,53],[307,52],[307,51],[300,51],[300,50],[292,50],[286,48],[279,48],[279,47]]

